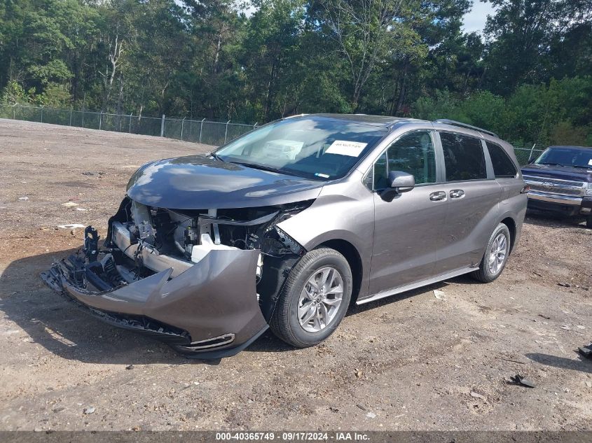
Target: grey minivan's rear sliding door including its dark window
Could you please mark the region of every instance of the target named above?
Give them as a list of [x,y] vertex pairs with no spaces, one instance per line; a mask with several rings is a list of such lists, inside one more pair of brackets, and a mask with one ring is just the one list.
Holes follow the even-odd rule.
[[444,131],[438,135],[449,200],[436,265],[436,274],[444,274],[479,265],[495,227],[502,188],[479,137]]

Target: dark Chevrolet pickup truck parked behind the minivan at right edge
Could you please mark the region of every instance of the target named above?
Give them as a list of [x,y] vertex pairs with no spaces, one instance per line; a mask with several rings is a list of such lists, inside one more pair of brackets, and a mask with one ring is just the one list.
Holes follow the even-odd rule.
[[586,218],[592,227],[592,147],[549,146],[522,175],[528,209]]

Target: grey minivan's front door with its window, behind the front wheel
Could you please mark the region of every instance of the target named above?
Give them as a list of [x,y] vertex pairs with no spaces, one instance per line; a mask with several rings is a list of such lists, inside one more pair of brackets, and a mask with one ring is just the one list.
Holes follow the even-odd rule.
[[[436,178],[434,132],[408,132],[376,160],[366,185],[373,189],[374,244],[369,292],[381,293],[432,276],[446,217],[445,186]],[[385,201],[388,171],[415,177],[415,188]]]

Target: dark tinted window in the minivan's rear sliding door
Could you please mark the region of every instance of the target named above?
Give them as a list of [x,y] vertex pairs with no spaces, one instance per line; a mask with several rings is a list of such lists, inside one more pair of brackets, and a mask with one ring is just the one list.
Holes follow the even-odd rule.
[[441,132],[446,181],[483,180],[487,178],[481,139]]

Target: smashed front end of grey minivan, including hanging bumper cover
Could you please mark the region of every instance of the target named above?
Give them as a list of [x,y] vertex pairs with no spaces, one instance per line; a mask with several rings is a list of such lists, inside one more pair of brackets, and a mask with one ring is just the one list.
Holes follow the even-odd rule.
[[42,274],[90,314],[197,358],[232,356],[268,328],[304,248],[277,226],[312,201],[245,209],[163,209],[125,197],[104,248],[84,247]]

